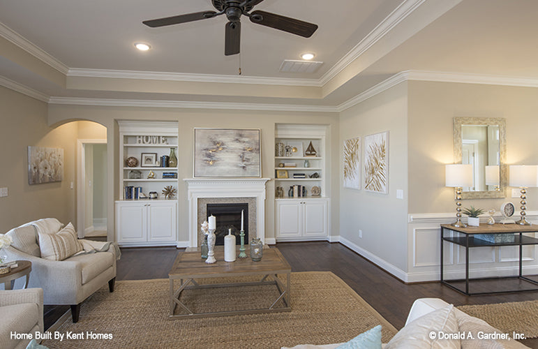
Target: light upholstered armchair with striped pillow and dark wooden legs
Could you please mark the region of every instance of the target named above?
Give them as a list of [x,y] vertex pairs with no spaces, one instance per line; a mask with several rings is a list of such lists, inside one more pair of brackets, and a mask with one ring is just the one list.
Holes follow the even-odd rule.
[[20,225],[6,235],[13,239],[4,247],[8,260],[32,262],[29,287],[43,288],[44,304],[70,305],[73,322],[84,299],[106,283],[114,291],[117,245],[77,239],[73,225],[56,218]]

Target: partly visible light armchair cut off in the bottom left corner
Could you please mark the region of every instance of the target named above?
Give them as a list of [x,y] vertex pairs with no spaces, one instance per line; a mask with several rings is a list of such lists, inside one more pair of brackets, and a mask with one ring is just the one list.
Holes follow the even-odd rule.
[[[11,338],[11,332],[21,334]],[[43,290],[0,291],[0,348],[26,348],[31,339],[27,334],[43,332]]]

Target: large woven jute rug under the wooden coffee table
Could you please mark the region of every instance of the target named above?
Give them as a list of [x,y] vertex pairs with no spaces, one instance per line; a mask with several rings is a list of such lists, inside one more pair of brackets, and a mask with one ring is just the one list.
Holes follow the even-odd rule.
[[[214,279],[211,279],[212,282]],[[244,280],[244,279],[241,279]],[[222,282],[222,279],[219,280]],[[297,344],[349,341],[382,325],[387,343],[396,329],[347,284],[331,272],[291,275],[292,311],[215,318],[169,320],[167,279],[118,281],[87,299],[76,324],[70,318],[57,332],[84,334],[84,339],[47,340],[49,348],[281,348]],[[200,281],[204,283],[204,281]],[[255,289],[250,290],[248,288]],[[182,300],[198,309],[271,304],[274,285],[186,290]],[[243,297],[239,302],[238,297]],[[281,301],[279,301],[281,302]],[[87,339],[88,332],[112,334],[112,339]]]

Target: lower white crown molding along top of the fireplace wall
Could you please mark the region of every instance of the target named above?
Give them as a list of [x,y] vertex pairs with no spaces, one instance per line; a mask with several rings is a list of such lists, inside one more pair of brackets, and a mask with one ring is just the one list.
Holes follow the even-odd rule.
[[233,102],[151,101],[136,99],[100,99],[51,97],[50,104],[100,105],[105,107],[168,107],[182,109],[268,110],[283,112],[338,112],[329,105],[292,105]]

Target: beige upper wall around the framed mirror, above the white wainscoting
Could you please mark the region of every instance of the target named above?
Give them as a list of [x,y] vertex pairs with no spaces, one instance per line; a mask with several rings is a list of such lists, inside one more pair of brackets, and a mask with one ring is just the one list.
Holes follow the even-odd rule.
[[[445,82],[409,83],[409,212],[455,212],[454,191],[444,186],[444,164],[454,163],[454,117],[507,120],[507,163],[538,164],[538,89]],[[538,189],[528,191],[528,209],[538,209]],[[463,207],[499,209],[505,199],[463,200]]]

